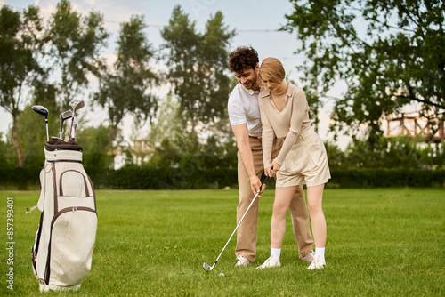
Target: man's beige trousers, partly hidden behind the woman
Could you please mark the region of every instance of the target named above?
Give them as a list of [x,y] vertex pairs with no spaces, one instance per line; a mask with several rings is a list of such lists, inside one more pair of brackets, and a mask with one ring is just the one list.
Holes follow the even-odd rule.
[[[250,147],[254,157],[255,173],[258,177],[264,170],[263,165],[263,148],[261,140],[250,138]],[[277,157],[279,149],[283,142],[282,139],[275,140],[272,148],[272,159]],[[246,213],[248,205],[254,199],[254,194],[250,188],[250,179],[247,171],[238,157],[238,185],[239,185],[239,205],[237,207],[237,224],[244,213]],[[290,203],[290,213],[292,218],[292,225],[294,227],[294,236],[296,244],[298,245],[299,257],[302,258],[306,254],[312,252],[313,237],[311,234],[311,227],[309,222],[309,213],[307,210],[306,201],[304,199],[303,186],[296,189],[294,198]],[[258,199],[246,214],[244,221],[239,225],[237,230],[237,246],[235,255],[243,256],[249,261],[255,261],[256,256],[256,228],[258,221]]]

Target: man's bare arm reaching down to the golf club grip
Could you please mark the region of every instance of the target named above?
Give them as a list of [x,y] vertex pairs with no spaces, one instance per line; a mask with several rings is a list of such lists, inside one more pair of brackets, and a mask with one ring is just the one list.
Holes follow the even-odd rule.
[[244,165],[244,168],[246,168],[247,174],[250,178],[250,188],[256,195],[260,191],[261,181],[255,173],[254,157],[252,155],[252,148],[250,148],[247,124],[232,125],[231,130],[237,139],[241,163]]

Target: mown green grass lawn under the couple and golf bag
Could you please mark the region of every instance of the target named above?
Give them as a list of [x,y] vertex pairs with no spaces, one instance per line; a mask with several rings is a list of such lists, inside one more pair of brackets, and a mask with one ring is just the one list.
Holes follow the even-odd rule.
[[[260,200],[257,261],[235,269],[232,238],[238,191],[97,193],[99,226],[93,267],[67,296],[444,296],[443,189],[327,189],[327,267],[298,260],[290,218],[279,269],[256,270],[269,257],[273,190]],[[1,191],[0,294],[36,296],[30,251],[39,221],[36,191]],[[7,289],[6,197],[14,198],[14,290]],[[225,277],[219,277],[223,272]]]

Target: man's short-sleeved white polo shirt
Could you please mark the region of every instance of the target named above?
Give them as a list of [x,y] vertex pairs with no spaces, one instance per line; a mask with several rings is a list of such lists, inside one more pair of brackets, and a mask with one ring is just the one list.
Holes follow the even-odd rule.
[[258,94],[259,91],[247,90],[244,85],[237,84],[227,104],[231,125],[247,124],[249,135],[254,137],[260,136],[262,130]]

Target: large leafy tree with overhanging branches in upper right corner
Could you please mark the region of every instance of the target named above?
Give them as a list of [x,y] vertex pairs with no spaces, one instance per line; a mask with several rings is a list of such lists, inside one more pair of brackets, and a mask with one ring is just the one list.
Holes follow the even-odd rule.
[[[308,82],[320,97],[336,81],[347,84],[336,99],[337,128],[379,133],[382,116],[417,103],[424,116],[445,109],[445,3],[440,0],[291,0],[283,28],[302,41],[298,52]],[[317,85],[317,84],[316,84]],[[306,87],[311,89],[311,85]],[[375,142],[374,140],[372,141]]]

